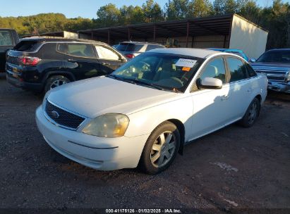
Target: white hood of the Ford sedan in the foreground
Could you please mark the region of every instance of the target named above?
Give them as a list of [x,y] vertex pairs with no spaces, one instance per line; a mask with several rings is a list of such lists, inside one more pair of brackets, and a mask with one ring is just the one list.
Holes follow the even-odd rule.
[[71,82],[49,91],[47,99],[69,111],[95,118],[104,113],[131,114],[175,99],[179,94],[109,77]]

